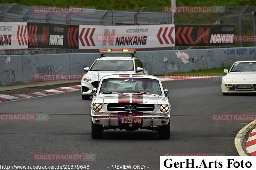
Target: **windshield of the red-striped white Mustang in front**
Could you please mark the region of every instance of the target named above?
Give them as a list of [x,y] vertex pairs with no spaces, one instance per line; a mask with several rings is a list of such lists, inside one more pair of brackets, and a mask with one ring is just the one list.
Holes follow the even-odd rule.
[[150,78],[108,78],[102,81],[99,94],[148,93],[162,95],[159,81]]

